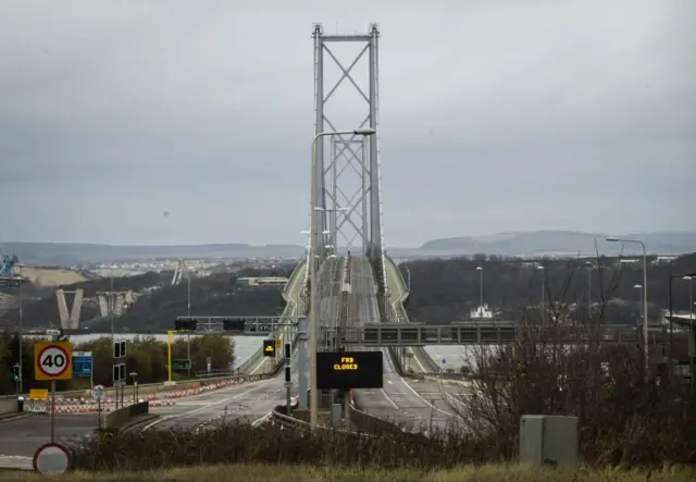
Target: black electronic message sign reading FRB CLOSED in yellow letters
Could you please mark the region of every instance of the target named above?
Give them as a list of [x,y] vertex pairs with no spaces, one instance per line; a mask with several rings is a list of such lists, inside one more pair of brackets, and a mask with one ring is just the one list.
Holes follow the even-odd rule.
[[320,390],[382,388],[382,351],[319,351]]

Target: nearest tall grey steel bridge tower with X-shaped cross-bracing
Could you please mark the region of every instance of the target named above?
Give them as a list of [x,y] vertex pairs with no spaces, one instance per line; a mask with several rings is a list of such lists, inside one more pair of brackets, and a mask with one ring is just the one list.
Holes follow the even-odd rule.
[[[340,135],[318,140],[316,184],[311,186],[316,193],[318,209],[310,213],[318,226],[312,234],[314,246],[320,259],[345,248],[369,257],[380,294],[384,295],[387,284],[378,145],[380,30],[373,23],[366,34],[326,35],[322,24],[314,24],[312,37],[314,134],[361,127],[377,131],[369,137]],[[344,51],[350,48],[355,52]],[[332,78],[331,67],[336,78]]]

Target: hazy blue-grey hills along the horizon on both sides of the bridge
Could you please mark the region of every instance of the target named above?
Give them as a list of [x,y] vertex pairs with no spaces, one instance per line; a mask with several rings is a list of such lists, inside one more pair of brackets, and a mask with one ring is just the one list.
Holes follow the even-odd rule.
[[[593,255],[595,237],[599,250],[618,255],[620,244],[606,243],[607,234],[570,231],[536,231],[499,233],[486,236],[462,236],[433,239],[421,247],[390,248],[396,257],[430,257],[457,255]],[[685,254],[696,251],[696,233],[637,233],[619,237],[642,239],[651,254]],[[302,258],[304,247],[297,245],[253,246],[241,243],[181,246],[116,246],[80,243],[0,243],[1,252],[17,255],[26,264],[79,265],[111,261],[140,261],[153,258]],[[626,245],[624,252],[638,252],[636,246]]]

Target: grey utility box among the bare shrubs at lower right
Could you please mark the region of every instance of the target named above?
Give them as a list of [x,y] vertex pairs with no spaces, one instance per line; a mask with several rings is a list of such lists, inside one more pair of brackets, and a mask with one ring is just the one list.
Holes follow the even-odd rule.
[[520,464],[533,467],[577,464],[577,417],[523,415]]

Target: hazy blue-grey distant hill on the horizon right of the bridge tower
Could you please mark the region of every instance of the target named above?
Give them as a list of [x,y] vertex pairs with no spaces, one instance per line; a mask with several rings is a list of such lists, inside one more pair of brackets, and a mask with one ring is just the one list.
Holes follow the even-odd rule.
[[[500,233],[487,236],[463,236],[430,240],[419,248],[427,254],[451,255],[594,255],[595,239],[599,252],[617,255],[621,243],[608,243],[608,234],[577,233],[571,231],[536,231],[531,233]],[[686,254],[696,251],[696,233],[634,233],[613,235],[620,238],[641,239],[650,254]],[[636,254],[641,247],[624,245],[624,252]]]

